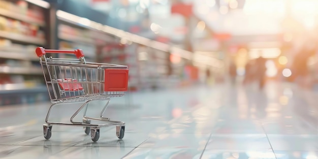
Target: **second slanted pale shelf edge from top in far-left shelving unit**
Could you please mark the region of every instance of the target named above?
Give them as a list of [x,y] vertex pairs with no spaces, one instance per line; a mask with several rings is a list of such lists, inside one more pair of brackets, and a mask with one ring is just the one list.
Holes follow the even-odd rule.
[[0,30],[0,37],[14,40],[14,41],[29,43],[29,44],[45,45],[45,40],[43,40],[43,39],[19,35],[19,34],[15,34],[15,33],[8,33],[7,31]]

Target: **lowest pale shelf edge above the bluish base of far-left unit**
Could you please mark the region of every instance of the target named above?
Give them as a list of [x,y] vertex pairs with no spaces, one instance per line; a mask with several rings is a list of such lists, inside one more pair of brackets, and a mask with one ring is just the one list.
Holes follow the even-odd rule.
[[23,83],[19,84],[0,84],[0,94],[10,93],[33,93],[33,92],[47,92],[47,87],[40,86],[27,86]]

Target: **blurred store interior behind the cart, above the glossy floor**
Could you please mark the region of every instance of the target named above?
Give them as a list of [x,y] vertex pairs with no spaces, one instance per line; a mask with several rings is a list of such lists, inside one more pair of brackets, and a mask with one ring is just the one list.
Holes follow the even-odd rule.
[[278,105],[301,94],[317,128],[317,8],[317,0],[0,0],[0,106],[49,103],[42,46],[127,65],[128,94],[227,89],[233,105],[241,89],[264,89]]

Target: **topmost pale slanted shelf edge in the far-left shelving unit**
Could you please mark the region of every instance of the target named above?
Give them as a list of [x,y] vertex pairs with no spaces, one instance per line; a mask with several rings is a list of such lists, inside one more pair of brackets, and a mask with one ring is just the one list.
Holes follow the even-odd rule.
[[20,13],[8,11],[8,10],[1,9],[1,8],[0,8],[0,15],[5,16],[5,17],[10,17],[12,19],[21,20],[21,21],[31,23],[31,24],[37,24],[39,26],[45,26],[44,21],[41,21],[41,20],[38,20],[35,18],[30,18],[26,15],[22,15]]

